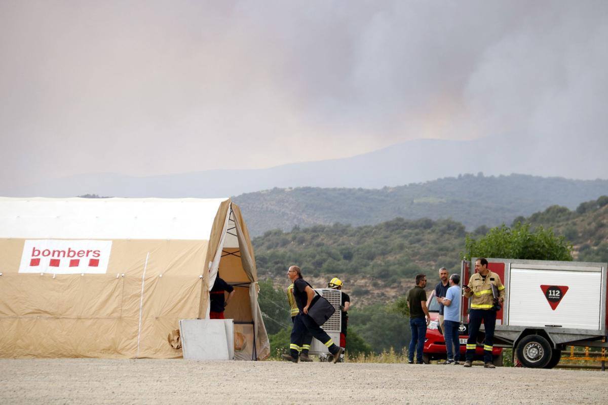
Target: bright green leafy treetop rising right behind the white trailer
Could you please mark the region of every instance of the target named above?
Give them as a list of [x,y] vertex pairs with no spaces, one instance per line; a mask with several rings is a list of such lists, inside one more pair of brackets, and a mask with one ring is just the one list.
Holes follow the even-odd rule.
[[564,236],[556,236],[552,228],[537,226],[530,231],[529,223],[517,223],[513,228],[496,226],[485,236],[465,240],[465,259],[471,257],[503,257],[505,259],[572,260],[572,245]]

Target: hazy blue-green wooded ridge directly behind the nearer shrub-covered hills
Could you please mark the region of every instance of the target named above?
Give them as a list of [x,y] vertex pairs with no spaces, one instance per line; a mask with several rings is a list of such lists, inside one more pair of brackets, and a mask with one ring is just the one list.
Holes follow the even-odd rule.
[[294,226],[373,225],[395,217],[452,219],[468,230],[510,224],[551,205],[575,209],[608,194],[608,180],[465,174],[382,189],[274,188],[234,197],[252,235]]

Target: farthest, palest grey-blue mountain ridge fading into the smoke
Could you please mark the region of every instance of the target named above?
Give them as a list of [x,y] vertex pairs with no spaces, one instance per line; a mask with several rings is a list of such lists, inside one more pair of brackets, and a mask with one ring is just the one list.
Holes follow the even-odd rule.
[[[568,157],[567,162],[570,160],[572,157]],[[145,177],[93,173],[29,184],[19,182],[14,188],[0,188],[0,195],[74,197],[95,193],[115,197],[215,198],[275,187],[379,189],[479,171],[486,175],[523,172],[583,179],[605,175],[597,163],[600,159],[586,165],[564,162],[559,156],[535,153],[522,141],[510,137],[471,141],[418,139],[348,158],[289,163],[266,169],[219,169]]]

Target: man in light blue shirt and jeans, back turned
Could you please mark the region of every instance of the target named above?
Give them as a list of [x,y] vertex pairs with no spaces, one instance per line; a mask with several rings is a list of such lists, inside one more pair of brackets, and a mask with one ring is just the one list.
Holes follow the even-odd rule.
[[[460,322],[460,276],[452,274],[449,280],[450,288],[447,289],[445,298],[441,299],[441,304],[444,305],[443,319],[444,330],[443,336],[446,339],[447,360],[443,364],[460,364],[460,340],[458,327]],[[439,299],[437,299],[439,301]],[[454,348],[452,348],[454,345]]]

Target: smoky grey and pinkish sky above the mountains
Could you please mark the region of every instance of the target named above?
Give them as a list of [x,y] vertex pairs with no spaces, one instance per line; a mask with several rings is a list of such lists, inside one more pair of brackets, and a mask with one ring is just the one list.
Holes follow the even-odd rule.
[[2,0],[0,191],[497,136],[605,178],[607,61],[603,0]]

